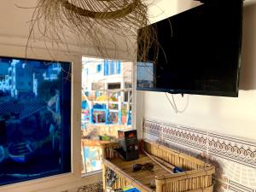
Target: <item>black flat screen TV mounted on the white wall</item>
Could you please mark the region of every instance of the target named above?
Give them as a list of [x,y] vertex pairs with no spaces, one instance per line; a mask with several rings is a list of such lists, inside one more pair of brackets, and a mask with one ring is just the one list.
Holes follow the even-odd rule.
[[137,61],[137,90],[238,96],[242,1],[214,2],[146,26],[156,29],[160,46]]

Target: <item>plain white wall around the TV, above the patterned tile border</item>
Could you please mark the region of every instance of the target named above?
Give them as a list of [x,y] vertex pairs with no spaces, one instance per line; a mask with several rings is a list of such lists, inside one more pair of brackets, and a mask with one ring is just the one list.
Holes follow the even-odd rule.
[[[162,0],[160,8],[151,8],[154,13],[165,10],[154,20],[175,15],[197,5],[195,1]],[[157,12],[157,10],[159,10]],[[156,14],[157,15],[157,14]],[[159,19],[160,18],[160,19]],[[174,96],[179,110],[174,113],[165,93],[137,93],[137,108],[140,110],[137,119],[148,117],[162,119],[182,125],[192,125],[202,130],[209,130],[233,137],[256,140],[256,1],[247,1],[244,7],[243,42],[241,54],[241,81],[238,98],[220,96]],[[169,96],[172,98],[171,96]],[[137,122],[137,126],[140,126]]]

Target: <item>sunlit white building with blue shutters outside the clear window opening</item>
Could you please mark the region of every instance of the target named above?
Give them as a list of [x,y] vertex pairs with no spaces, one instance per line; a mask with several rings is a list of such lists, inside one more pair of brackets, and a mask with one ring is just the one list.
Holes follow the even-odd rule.
[[[131,88],[132,63],[83,58],[82,84],[85,91]],[[122,96],[125,98],[125,96]]]

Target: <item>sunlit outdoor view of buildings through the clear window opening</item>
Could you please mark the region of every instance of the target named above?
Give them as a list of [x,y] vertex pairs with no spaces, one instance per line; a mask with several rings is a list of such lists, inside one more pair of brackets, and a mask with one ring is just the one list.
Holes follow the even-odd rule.
[[82,173],[102,169],[101,143],[131,127],[132,62],[83,57]]

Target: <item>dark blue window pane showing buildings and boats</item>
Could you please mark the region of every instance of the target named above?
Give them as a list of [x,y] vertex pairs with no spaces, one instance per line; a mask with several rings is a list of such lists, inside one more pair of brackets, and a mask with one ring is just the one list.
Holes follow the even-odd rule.
[[71,63],[0,56],[0,186],[71,172]]

